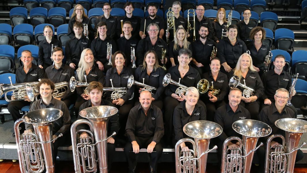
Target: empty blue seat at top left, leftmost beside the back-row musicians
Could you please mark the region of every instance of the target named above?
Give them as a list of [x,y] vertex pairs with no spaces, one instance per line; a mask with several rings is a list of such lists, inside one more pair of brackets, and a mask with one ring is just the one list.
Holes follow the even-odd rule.
[[10,10],[10,21],[13,26],[28,23],[28,10],[24,7],[15,7]]

